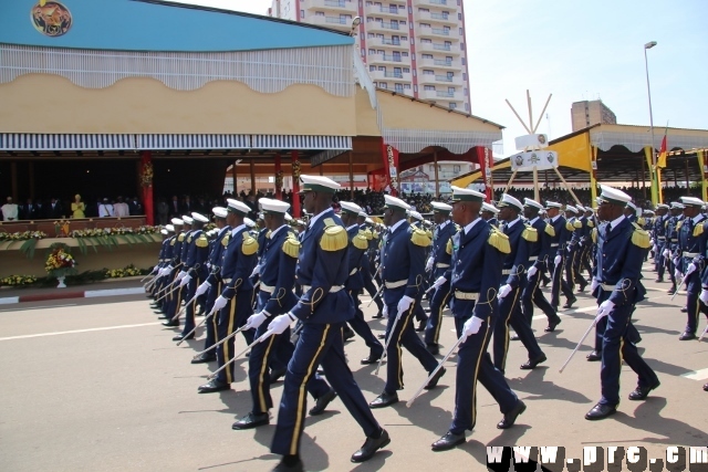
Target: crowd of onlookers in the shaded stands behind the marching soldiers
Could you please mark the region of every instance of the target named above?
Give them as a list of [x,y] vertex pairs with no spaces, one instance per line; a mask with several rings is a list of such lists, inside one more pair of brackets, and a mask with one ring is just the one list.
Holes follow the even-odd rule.
[[[650,190],[648,188],[637,187],[622,187],[621,190],[628,193],[634,202],[642,208],[652,208],[650,204]],[[494,200],[501,199],[503,189],[497,189],[494,191]],[[583,204],[591,204],[590,188],[573,189],[577,198]],[[339,207],[340,200],[354,201],[362,207],[368,214],[382,214],[384,212],[384,191],[374,191],[372,189],[357,189],[354,190],[354,197],[348,189],[340,190],[334,197],[334,207]],[[528,188],[510,188],[509,193],[519,200],[523,198],[534,198],[533,189]],[[560,203],[574,203],[574,198],[564,188],[542,188],[539,191],[541,202],[548,200],[558,201]],[[681,196],[691,196],[700,198],[700,189],[686,189],[683,187],[665,187],[663,189],[663,200],[665,202],[676,201]],[[183,214],[189,214],[191,212],[202,213],[209,216],[214,207],[227,206],[227,199],[235,198],[244,202],[250,209],[249,217],[256,219],[258,217],[259,207],[258,200],[263,197],[274,198],[270,192],[251,192],[248,193],[241,190],[237,195],[226,192],[220,196],[196,196],[189,195],[173,196],[171,198],[160,197],[157,199],[155,206],[155,223],[167,224],[171,218],[181,217]],[[282,199],[288,201],[291,206],[293,202],[292,191],[283,191]],[[428,213],[431,211],[430,201],[448,201],[449,197],[435,196],[430,193],[400,193],[399,197],[405,200],[410,207],[420,212]],[[300,197],[302,198],[302,197]],[[17,203],[11,197],[7,198],[6,203],[0,207],[0,217],[2,221],[15,221],[15,220],[42,220],[42,219],[65,219],[65,218],[108,218],[108,217],[131,217],[145,214],[142,201],[137,197],[124,199],[118,196],[115,199],[102,198],[90,199],[83,201],[81,196],[76,195],[74,201],[61,201],[56,198],[49,200],[32,200],[31,198],[24,200],[22,203]]]

